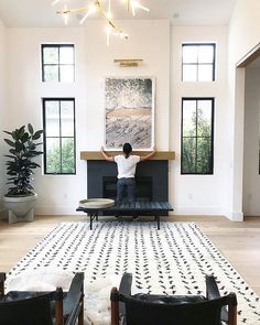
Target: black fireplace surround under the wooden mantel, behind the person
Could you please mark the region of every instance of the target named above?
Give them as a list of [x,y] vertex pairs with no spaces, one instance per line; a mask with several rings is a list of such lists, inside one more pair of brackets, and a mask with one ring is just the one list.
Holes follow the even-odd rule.
[[[138,163],[136,201],[169,201],[169,161],[148,160]],[[116,198],[117,164],[102,160],[87,161],[88,198]]]

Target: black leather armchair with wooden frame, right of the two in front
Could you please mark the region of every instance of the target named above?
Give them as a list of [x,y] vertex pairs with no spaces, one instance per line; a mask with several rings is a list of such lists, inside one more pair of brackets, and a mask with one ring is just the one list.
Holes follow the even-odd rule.
[[111,325],[220,325],[237,324],[235,293],[220,296],[215,278],[206,275],[206,296],[131,295],[132,275],[124,273],[119,291],[111,290]]

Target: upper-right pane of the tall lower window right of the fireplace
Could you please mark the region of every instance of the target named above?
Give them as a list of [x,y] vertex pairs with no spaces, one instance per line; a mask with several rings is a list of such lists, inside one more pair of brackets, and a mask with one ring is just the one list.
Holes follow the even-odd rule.
[[198,100],[197,104],[197,137],[212,134],[212,101]]

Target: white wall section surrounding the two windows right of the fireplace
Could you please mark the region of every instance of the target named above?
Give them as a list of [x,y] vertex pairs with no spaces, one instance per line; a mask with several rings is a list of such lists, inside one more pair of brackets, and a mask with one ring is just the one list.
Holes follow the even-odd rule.
[[[176,214],[221,215],[226,212],[225,183],[228,124],[227,107],[227,26],[173,26],[171,75],[171,147],[176,152],[171,180],[171,198]],[[182,43],[216,42],[216,82],[182,83]],[[214,97],[214,174],[181,175],[182,97]]]

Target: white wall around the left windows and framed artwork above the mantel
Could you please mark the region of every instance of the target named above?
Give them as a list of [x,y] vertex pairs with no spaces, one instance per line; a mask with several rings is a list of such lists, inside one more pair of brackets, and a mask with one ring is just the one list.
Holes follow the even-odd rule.
[[[123,21],[127,42],[111,39],[106,45],[101,22],[86,28],[8,29],[8,118],[10,128],[31,122],[42,128],[42,97],[75,97],[77,174],[35,176],[39,193],[36,214],[75,214],[78,201],[87,197],[86,161],[80,151],[99,150],[104,144],[104,77],[154,76],[156,80],[155,141],[169,150],[170,23]],[[131,36],[132,35],[132,36]],[[41,82],[41,43],[69,42],[76,48],[75,84]],[[143,58],[139,67],[120,68],[113,58]]]

